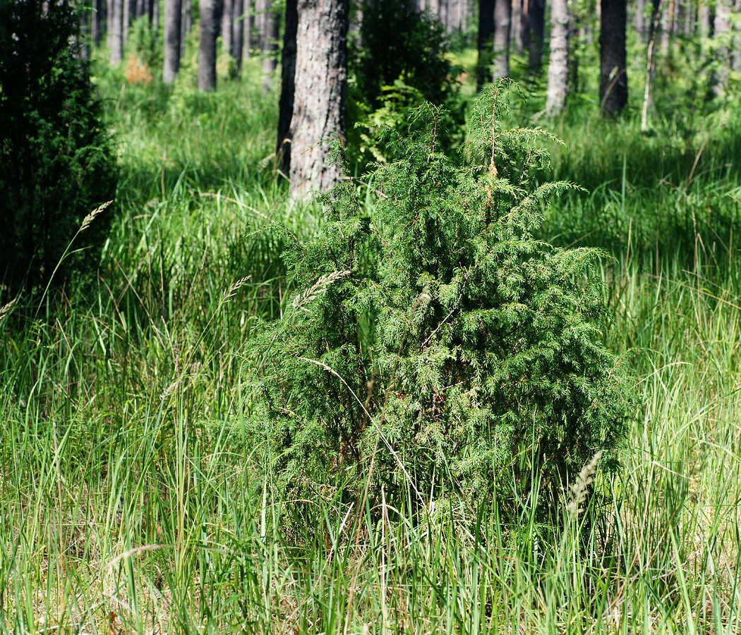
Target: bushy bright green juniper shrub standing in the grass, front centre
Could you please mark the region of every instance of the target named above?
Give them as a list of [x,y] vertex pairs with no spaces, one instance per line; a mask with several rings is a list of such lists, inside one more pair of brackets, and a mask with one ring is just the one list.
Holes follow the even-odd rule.
[[252,343],[250,426],[289,498],[383,488],[471,522],[496,496],[514,520],[539,483],[556,518],[595,454],[616,466],[636,401],[602,345],[601,254],[534,239],[548,197],[573,186],[534,182],[548,134],[505,129],[505,88],[473,111],[474,167],[439,152],[442,115],[425,104],[420,132],[389,133],[370,216],[347,182],[322,197],[316,239],[286,233],[297,290]]

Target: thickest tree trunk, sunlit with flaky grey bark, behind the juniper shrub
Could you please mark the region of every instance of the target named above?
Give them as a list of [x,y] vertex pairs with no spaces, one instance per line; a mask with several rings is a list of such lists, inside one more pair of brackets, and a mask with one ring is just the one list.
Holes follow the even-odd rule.
[[348,0],[299,0],[296,93],[290,159],[292,196],[326,191],[342,176],[330,164],[331,135],[345,136],[348,83]]

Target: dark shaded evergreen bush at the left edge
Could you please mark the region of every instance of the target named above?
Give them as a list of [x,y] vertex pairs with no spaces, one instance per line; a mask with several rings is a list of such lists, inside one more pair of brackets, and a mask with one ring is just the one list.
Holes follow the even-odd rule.
[[[73,43],[77,24],[68,0],[0,4],[0,285],[7,295],[44,285],[84,216],[116,187],[87,64]],[[84,233],[87,245],[102,242],[106,217]],[[62,262],[56,279],[81,257]]]

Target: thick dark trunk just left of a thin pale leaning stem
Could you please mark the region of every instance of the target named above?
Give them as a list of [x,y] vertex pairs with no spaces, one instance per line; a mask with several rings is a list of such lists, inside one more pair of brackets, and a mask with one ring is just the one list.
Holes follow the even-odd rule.
[[599,101],[602,113],[617,115],[628,103],[628,71],[625,68],[626,0],[601,0],[599,33]]

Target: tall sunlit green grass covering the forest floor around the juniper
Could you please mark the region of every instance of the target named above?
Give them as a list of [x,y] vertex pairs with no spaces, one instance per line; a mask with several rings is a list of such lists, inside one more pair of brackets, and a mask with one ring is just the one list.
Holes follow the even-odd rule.
[[[692,196],[737,213],[723,198],[736,146],[706,144],[715,168],[702,177],[677,159],[661,176],[673,170],[682,190],[651,181],[660,140],[631,124],[600,139],[562,128],[559,176],[591,194],[554,206],[548,231],[615,247],[607,338],[631,356],[645,404],[619,477],[598,480],[585,510],[567,511],[565,492],[556,530],[522,500],[507,526],[493,500],[461,530],[448,513],[413,522],[383,500],[340,513],[328,493],[315,503],[323,521],[286,536],[293,505],[262,448],[230,441],[250,325],[286,308],[270,223],[305,235],[321,219],[283,199],[259,90],[111,90],[127,178],[97,292],[50,296],[36,319],[21,300],[0,317],[0,629],[741,631],[737,247],[717,240],[711,257],[711,233],[694,225],[687,242],[670,223],[660,248],[639,248],[636,229],[642,211],[659,213],[657,191],[662,218]],[[628,133],[631,150],[611,152]],[[605,210],[627,230],[590,233]]]

